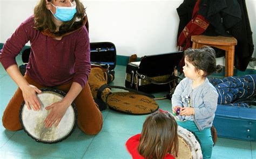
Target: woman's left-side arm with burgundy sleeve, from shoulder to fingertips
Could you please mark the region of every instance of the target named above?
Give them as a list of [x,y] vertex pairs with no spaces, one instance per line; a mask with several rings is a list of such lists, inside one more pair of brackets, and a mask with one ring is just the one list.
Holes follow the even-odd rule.
[[12,34],[5,42],[3,49],[1,50],[2,56],[0,57],[0,61],[10,77],[22,90],[28,108],[30,109],[30,107],[32,107],[33,110],[39,110],[40,104],[36,97],[36,92],[40,93],[41,91],[25,80],[15,61],[15,57],[21,52],[24,45],[33,37],[34,32],[36,32],[33,28],[33,24],[33,17],[31,16],[18,26],[14,34]]

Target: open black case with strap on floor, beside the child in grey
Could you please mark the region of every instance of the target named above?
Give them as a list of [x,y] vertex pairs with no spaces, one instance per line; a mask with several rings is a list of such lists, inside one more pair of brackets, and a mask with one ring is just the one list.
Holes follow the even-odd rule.
[[125,87],[143,92],[172,91],[178,78],[174,68],[183,57],[183,52],[144,56],[139,62],[126,67]]

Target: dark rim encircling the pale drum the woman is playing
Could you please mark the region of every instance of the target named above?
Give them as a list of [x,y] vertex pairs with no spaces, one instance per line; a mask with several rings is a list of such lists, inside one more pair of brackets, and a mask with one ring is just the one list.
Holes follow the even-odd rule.
[[[42,88],[40,89],[42,92],[54,92],[54,93],[58,93],[60,96],[63,96],[63,98],[66,96],[66,93],[62,90],[59,90],[59,89],[53,89],[53,88]],[[36,93],[38,94],[38,93]],[[52,142],[48,142],[48,141],[42,141],[42,140],[38,140],[36,139],[34,136],[32,136],[28,131],[26,131],[24,125],[23,125],[23,121],[22,121],[22,111],[23,111],[23,107],[25,105],[25,102],[22,103],[21,105],[21,108],[19,109],[19,122],[21,122],[21,125],[22,125],[22,128],[24,130],[24,132],[26,134],[28,134],[28,136],[30,136],[30,138],[32,138],[33,140],[35,140],[36,142],[41,142],[41,143],[57,143],[57,142],[61,142],[63,140],[65,140],[66,138],[68,138],[72,133],[73,131],[75,131],[75,128],[76,128],[76,125],[77,125],[77,116],[78,116],[78,113],[77,113],[77,108],[76,108],[76,104],[74,102],[72,102],[71,106],[73,108],[73,111],[75,113],[75,122],[74,122],[74,125],[73,125],[73,128],[71,129],[71,131],[69,132],[68,135],[64,136],[63,138],[60,138],[58,140],[55,140],[55,141],[52,141]]]

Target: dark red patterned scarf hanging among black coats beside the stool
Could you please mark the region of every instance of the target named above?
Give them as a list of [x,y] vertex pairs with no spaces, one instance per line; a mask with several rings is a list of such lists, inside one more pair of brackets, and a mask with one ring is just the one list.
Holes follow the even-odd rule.
[[198,0],[194,6],[191,21],[179,35],[177,44],[179,50],[185,50],[191,47],[191,36],[202,34],[210,24],[203,16],[198,15],[199,3],[200,0]]

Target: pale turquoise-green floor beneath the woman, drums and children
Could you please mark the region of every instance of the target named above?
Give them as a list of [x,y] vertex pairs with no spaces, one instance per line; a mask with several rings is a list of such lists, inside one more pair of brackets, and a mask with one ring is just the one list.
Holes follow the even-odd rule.
[[[21,64],[21,56],[17,57]],[[1,65],[1,64],[0,64]],[[113,85],[124,86],[125,66],[117,66]],[[0,115],[17,89],[16,84],[0,66]],[[118,90],[113,90],[118,91]],[[155,94],[162,96],[164,93]],[[171,110],[170,100],[158,100],[160,108]],[[130,136],[140,133],[147,115],[128,115],[104,110],[102,131],[93,136],[85,135],[79,128],[71,136],[56,144],[38,143],[24,131],[6,131],[0,124],[0,158],[131,158],[125,148]],[[2,119],[2,118],[1,118]],[[212,158],[254,158],[256,142],[218,138]]]

